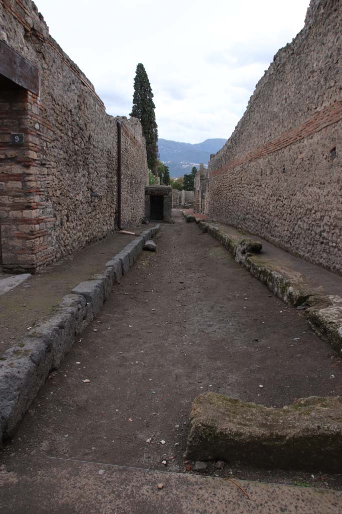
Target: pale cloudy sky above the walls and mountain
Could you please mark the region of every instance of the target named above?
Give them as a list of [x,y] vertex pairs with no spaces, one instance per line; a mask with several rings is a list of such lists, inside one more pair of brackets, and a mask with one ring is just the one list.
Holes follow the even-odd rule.
[[159,137],[228,138],[309,0],[35,0],[52,37],[112,115],[128,116],[142,62]]

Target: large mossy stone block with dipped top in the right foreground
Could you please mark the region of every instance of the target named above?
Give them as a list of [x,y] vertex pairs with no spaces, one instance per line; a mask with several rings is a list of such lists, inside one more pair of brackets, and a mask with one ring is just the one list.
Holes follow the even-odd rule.
[[268,468],[342,470],[342,397],[310,397],[283,409],[228,396],[197,396],[187,458]]

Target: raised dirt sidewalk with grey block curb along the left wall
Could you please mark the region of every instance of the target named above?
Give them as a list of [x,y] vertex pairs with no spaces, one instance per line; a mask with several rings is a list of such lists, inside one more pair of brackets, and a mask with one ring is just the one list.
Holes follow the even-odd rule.
[[1,297],[0,446],[158,231],[109,235]]

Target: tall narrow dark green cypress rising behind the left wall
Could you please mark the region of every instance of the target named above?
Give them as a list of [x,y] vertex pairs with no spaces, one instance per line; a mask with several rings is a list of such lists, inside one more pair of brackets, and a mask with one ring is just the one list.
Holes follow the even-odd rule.
[[155,121],[155,105],[151,84],[144,65],[139,63],[136,67],[134,78],[133,107],[130,116],[140,120],[143,126],[143,136],[146,140],[146,152],[148,167],[156,175],[158,160],[158,127]]

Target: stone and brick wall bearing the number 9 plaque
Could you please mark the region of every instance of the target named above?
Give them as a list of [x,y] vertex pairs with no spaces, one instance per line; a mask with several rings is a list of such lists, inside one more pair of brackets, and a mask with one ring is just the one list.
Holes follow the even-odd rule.
[[[39,72],[39,96],[0,84],[0,218],[7,269],[35,271],[114,231],[117,121],[122,227],[144,216],[148,169],[135,119],[113,118],[30,0],[0,0],[0,39]],[[24,134],[22,145],[10,134]]]

